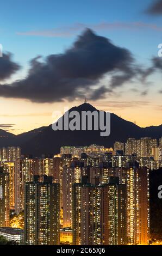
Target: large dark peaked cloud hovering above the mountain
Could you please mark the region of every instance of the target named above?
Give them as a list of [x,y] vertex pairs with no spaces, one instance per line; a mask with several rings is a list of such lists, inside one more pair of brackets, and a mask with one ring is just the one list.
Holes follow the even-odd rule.
[[[0,95],[34,102],[54,102],[83,97],[102,97],[136,75],[132,54],[103,36],[86,29],[64,54],[53,54],[41,62],[30,62],[26,78],[0,86]],[[113,75],[110,88],[93,86],[106,74]]]

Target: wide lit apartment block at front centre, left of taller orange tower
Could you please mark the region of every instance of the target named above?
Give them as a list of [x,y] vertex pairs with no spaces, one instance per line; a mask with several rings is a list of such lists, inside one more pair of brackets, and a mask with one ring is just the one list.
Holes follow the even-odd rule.
[[126,185],[73,184],[73,245],[126,245]]

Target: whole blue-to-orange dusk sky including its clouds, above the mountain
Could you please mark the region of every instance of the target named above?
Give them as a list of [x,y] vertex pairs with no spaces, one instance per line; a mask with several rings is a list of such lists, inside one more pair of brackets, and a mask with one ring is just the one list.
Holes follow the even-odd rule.
[[0,129],[47,126],[85,96],[141,127],[162,124],[160,0],[5,0],[0,44]]

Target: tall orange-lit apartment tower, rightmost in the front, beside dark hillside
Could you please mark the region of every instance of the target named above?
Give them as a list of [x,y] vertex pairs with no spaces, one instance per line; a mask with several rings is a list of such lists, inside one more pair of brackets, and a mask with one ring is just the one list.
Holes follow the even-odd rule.
[[[130,166],[120,169],[127,185],[127,239],[130,244],[147,245],[149,240],[149,172]],[[124,180],[125,179],[125,180]]]

